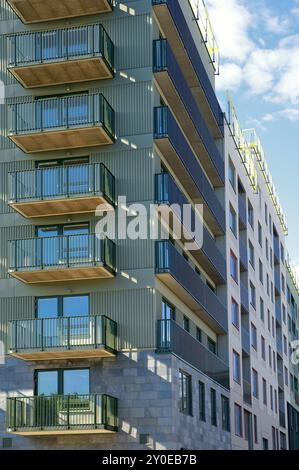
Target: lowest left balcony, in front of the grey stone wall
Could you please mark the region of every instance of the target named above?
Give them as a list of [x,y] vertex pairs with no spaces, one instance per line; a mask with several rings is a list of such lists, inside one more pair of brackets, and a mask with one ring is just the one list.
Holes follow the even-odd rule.
[[114,433],[117,417],[117,398],[102,394],[7,399],[7,431],[22,436]]

